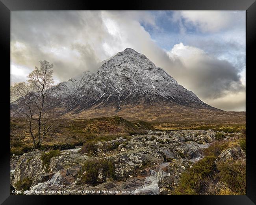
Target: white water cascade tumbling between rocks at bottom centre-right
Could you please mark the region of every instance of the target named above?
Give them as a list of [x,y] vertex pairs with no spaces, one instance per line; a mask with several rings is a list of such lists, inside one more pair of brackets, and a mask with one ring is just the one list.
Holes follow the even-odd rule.
[[149,176],[146,177],[145,185],[132,191],[132,194],[137,194],[140,192],[151,191],[154,195],[159,194],[158,181],[162,180],[163,177],[169,176],[169,173],[166,173],[162,170],[164,166],[167,166],[169,163],[160,164],[155,170],[150,170]]

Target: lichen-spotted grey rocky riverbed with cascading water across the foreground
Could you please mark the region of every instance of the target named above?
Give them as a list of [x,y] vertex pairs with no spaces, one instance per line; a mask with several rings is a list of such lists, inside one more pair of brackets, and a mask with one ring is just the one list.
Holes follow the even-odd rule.
[[[240,133],[221,132],[228,140]],[[216,140],[211,129],[180,131],[148,131],[147,135],[121,137],[95,144],[95,152],[80,153],[81,148],[63,150],[52,157],[46,168],[43,151],[34,150],[20,157],[12,157],[10,164],[11,188],[20,191],[17,183],[30,181],[26,194],[67,195],[165,195],[180,182],[180,175],[193,163],[202,159],[202,150]],[[223,157],[244,157],[243,151],[224,150]],[[114,164],[115,178],[97,176],[97,184],[79,183],[82,166],[93,159],[104,159]],[[84,174],[84,173],[82,173]]]

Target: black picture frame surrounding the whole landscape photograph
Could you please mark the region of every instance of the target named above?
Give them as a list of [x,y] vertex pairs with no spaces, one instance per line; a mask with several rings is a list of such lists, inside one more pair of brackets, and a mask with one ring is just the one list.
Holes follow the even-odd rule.
[[[9,90],[10,79],[4,71],[10,68],[10,17],[15,10],[246,10],[246,107],[247,107],[247,194],[246,196],[171,196],[189,199],[190,204],[202,205],[252,205],[256,204],[256,158],[254,148],[254,116],[256,100],[254,100],[254,50],[256,47],[256,2],[255,0],[130,0],[122,2],[92,2],[82,0],[0,0],[0,42],[2,59],[1,99],[2,143],[0,163],[0,203],[2,204],[51,204],[52,196],[13,196],[9,194]],[[115,5],[115,6],[114,6]],[[4,63],[4,64],[3,64]],[[58,203],[74,203],[74,199],[58,197]],[[72,200],[72,201],[71,201]],[[98,197],[97,197],[98,202]],[[78,203],[78,201],[76,202]],[[86,203],[86,201],[84,201]],[[180,202],[179,202],[180,203]]]

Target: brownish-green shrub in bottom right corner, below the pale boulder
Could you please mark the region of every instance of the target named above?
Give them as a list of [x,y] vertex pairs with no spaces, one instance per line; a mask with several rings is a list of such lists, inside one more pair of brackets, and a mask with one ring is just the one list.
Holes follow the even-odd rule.
[[246,163],[237,161],[218,162],[219,180],[228,185],[234,194],[246,194]]

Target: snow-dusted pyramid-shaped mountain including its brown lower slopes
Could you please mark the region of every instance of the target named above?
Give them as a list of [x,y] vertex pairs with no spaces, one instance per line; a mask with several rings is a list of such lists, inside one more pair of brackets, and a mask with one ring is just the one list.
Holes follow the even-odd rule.
[[[102,61],[96,73],[85,71],[54,89],[52,107],[57,108],[59,116],[70,118],[118,115],[164,121],[170,117],[200,118],[202,113],[214,116],[224,112],[202,102],[165,70],[131,48]],[[17,102],[12,105],[11,115],[16,115],[17,107]]]

